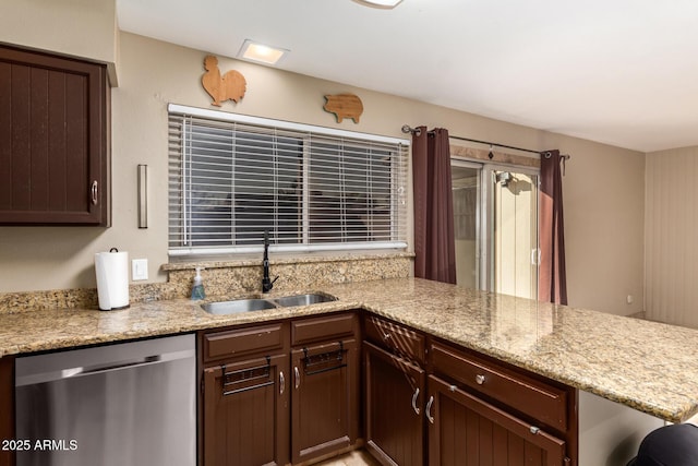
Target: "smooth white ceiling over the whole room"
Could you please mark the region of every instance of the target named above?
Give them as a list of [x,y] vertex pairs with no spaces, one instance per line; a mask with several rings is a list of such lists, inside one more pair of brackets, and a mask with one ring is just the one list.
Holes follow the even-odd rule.
[[[695,0],[117,0],[122,31],[651,152],[698,145]],[[419,123],[419,122],[410,122]],[[459,135],[473,138],[467,130]]]

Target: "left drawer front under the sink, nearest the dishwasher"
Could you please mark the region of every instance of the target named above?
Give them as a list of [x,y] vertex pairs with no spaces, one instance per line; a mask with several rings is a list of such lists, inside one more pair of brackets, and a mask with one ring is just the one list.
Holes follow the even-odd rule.
[[204,361],[230,358],[288,347],[282,323],[204,334]]

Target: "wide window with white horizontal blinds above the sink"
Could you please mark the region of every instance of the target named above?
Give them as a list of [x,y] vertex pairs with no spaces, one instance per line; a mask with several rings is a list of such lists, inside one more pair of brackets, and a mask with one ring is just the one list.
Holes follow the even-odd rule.
[[170,255],[405,248],[409,141],[169,106]]

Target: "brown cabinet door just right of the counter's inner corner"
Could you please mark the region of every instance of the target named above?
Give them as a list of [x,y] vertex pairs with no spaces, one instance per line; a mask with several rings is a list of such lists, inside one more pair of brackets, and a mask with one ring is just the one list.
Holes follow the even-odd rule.
[[368,342],[366,447],[384,465],[424,464],[424,370]]

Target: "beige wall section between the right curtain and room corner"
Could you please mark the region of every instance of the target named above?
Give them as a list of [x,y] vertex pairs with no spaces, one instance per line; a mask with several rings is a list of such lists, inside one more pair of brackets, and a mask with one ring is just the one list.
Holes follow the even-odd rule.
[[641,312],[643,155],[562,136],[547,144],[571,154],[563,181],[570,306]]

